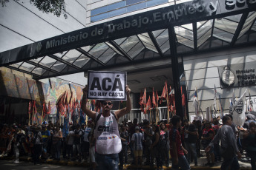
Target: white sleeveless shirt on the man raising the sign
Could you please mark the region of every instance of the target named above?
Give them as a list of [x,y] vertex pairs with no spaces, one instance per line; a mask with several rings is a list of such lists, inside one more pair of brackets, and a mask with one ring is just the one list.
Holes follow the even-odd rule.
[[[96,112],[96,118],[99,115]],[[98,154],[118,154],[122,150],[122,143],[118,130],[118,123],[114,115],[100,116],[94,131],[96,138],[95,150]]]

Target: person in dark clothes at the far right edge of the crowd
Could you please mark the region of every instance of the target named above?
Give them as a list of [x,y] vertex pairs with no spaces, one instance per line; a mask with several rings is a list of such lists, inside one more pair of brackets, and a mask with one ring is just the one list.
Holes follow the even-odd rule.
[[252,170],[256,170],[256,124],[254,121],[249,123],[249,131],[243,134],[246,140],[246,152],[251,158]]

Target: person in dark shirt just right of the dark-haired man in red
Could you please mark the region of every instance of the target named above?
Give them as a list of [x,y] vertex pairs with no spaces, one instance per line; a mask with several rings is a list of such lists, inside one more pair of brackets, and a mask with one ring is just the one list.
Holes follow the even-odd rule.
[[194,166],[197,166],[197,152],[196,152],[196,141],[197,141],[197,129],[193,123],[188,124],[188,120],[184,120],[184,143],[185,148],[188,151],[187,159],[188,163],[191,163],[191,154],[194,159]]

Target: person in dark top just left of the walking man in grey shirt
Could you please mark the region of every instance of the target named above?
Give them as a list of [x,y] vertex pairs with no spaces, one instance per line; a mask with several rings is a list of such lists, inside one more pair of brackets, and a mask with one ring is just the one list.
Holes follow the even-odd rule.
[[[202,135],[202,145],[203,149],[206,149],[207,146],[209,146],[209,143],[211,143],[211,140],[214,138],[214,130],[211,129],[211,123],[209,121],[206,121],[205,123],[205,129],[203,129],[203,135]],[[211,149],[209,152],[206,153],[207,161],[206,166],[214,166],[214,148],[211,146]]]

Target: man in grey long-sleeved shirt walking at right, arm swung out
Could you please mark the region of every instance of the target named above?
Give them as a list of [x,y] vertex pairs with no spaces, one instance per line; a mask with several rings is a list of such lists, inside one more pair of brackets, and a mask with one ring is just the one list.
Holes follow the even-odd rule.
[[[220,169],[226,170],[229,169],[229,166],[231,166],[232,170],[240,169],[237,157],[241,158],[242,155],[237,148],[234,131],[231,127],[232,119],[228,115],[225,115],[223,116],[222,121],[223,126],[220,128],[219,132],[217,132],[217,135],[214,136],[214,139],[211,140],[209,146],[206,147],[206,152],[209,152],[211,147],[214,146],[214,143],[217,143],[220,140],[221,148],[223,149],[222,155],[228,154],[223,157],[223,163],[221,164]],[[237,156],[235,154],[237,154]]]

